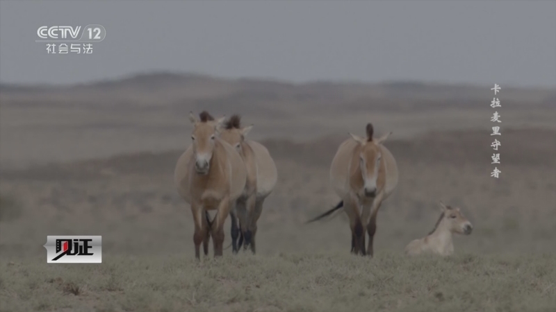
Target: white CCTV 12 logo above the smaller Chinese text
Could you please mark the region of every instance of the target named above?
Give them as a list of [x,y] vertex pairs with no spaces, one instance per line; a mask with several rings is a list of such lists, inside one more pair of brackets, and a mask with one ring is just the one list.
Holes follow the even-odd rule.
[[35,42],[101,42],[106,37],[106,29],[99,24],[81,26],[40,26],[40,38]]

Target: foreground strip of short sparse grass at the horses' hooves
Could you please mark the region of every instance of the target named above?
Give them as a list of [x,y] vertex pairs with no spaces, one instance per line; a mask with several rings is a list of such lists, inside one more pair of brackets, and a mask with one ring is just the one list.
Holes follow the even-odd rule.
[[[554,311],[554,254],[105,257],[8,265],[3,311]],[[25,274],[27,272],[28,274]]]

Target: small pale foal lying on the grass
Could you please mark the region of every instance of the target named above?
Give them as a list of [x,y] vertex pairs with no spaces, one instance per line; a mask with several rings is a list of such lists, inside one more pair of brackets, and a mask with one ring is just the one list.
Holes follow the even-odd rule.
[[423,239],[411,241],[405,248],[406,254],[432,253],[449,256],[454,253],[452,234],[471,234],[473,225],[461,214],[459,208],[445,206],[443,202],[439,202],[439,205],[442,213],[434,229]]

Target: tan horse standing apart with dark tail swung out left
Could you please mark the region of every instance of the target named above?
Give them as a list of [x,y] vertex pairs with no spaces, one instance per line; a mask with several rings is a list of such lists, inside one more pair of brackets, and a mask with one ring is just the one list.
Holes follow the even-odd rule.
[[[350,218],[352,252],[373,257],[373,239],[377,229],[377,213],[381,203],[398,185],[398,166],[390,151],[382,145],[392,132],[373,138],[373,125],[366,126],[365,139],[352,136],[338,148],[330,168],[330,182],[342,198],[336,207],[309,220],[313,222],[344,207]],[[369,235],[365,252],[365,232]]]

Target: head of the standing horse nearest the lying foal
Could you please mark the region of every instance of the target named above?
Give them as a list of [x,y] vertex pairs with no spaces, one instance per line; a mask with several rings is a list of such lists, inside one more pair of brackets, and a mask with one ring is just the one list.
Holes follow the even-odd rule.
[[377,196],[377,180],[379,177],[380,162],[382,161],[382,153],[379,144],[382,144],[392,132],[373,139],[373,125],[367,123],[366,127],[367,137],[365,139],[357,135],[350,135],[359,144],[361,150],[359,153],[359,168],[361,168],[361,175],[363,175],[363,191],[368,198]]

